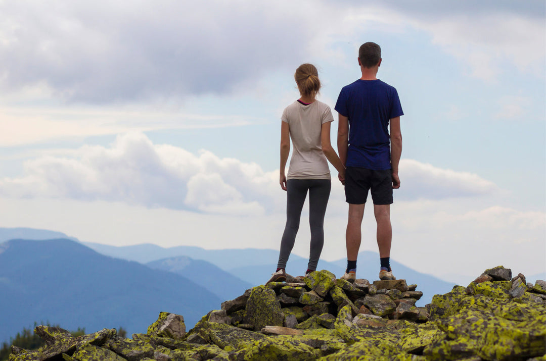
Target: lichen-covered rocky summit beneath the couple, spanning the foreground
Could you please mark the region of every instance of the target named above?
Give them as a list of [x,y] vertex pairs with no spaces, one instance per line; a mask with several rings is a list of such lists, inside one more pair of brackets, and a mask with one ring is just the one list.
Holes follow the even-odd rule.
[[426,307],[405,280],[354,283],[327,270],[247,290],[186,332],[161,312],[146,334],[73,337],[38,326],[46,344],[12,346],[26,360],[546,360],[546,282],[498,266]]

